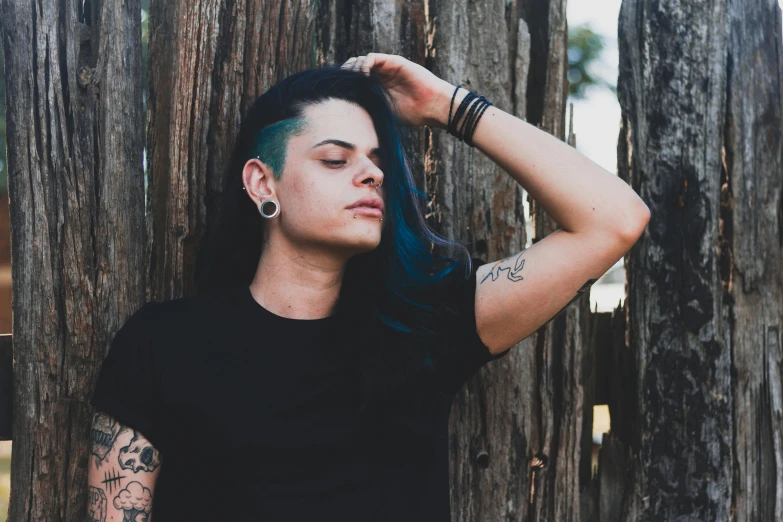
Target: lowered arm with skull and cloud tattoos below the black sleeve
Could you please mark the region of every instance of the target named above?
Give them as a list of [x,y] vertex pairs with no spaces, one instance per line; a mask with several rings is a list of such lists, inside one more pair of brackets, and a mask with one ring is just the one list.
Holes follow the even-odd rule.
[[140,432],[96,411],[90,452],[87,520],[151,522],[158,450]]

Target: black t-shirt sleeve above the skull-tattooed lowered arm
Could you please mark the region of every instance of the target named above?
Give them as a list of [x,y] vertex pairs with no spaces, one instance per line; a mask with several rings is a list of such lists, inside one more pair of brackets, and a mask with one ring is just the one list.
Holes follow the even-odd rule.
[[158,372],[152,349],[154,305],[143,305],[114,334],[90,404],[160,449]]

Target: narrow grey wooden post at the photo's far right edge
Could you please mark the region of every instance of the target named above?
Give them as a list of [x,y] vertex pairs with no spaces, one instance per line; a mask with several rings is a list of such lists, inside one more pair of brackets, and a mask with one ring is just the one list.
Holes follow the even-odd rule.
[[783,56],[774,0],[731,2],[721,177],[736,522],[783,520]]

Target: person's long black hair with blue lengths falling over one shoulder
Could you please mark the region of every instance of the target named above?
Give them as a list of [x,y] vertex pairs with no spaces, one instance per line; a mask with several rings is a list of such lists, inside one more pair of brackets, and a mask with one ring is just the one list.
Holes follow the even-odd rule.
[[[373,74],[329,64],[292,74],[255,100],[236,138],[217,224],[199,253],[199,293],[248,286],[258,267],[265,220],[242,190],[242,169],[258,154],[262,130],[303,116],[308,105],[335,98],[362,107],[373,121],[387,209],[379,246],[355,255],[346,265],[336,314],[348,328],[372,325],[364,338],[357,337],[358,344],[378,347],[383,344],[378,340],[388,339],[385,334],[391,333],[394,347],[399,348],[404,339],[402,345],[411,348],[409,362],[421,357],[419,362],[430,367],[430,352],[448,349],[436,342],[438,325],[456,311],[439,289],[444,278],[459,277],[456,268],[465,267],[463,278],[470,273],[471,256],[464,244],[441,237],[427,225],[427,197],[416,186],[403,149],[401,134],[406,127],[394,112],[393,97]],[[453,257],[455,253],[463,256],[461,262]],[[374,351],[380,357],[389,355],[382,348]],[[381,359],[376,362],[382,364]]]

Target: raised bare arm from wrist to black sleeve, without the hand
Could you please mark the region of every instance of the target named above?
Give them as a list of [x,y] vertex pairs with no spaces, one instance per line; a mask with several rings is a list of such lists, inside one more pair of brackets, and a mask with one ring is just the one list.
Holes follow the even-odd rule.
[[[443,82],[428,117],[433,126],[446,127],[454,90]],[[467,92],[459,89],[455,108]],[[527,250],[479,268],[476,330],[498,353],[587,291],[636,243],[650,210],[623,180],[495,106],[484,112],[472,141],[562,227]]]

